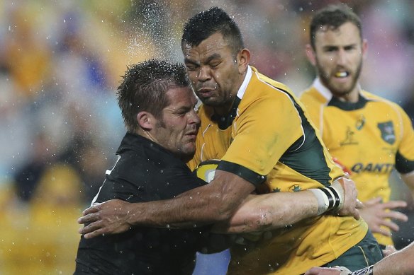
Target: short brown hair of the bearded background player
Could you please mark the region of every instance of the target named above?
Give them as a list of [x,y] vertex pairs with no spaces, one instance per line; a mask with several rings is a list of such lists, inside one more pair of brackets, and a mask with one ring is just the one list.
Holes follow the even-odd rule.
[[320,9],[311,20],[311,45],[315,49],[315,35],[322,27],[328,27],[329,30],[336,30],[341,25],[350,22],[357,26],[359,37],[362,40],[362,23],[361,19],[345,4],[334,4]]

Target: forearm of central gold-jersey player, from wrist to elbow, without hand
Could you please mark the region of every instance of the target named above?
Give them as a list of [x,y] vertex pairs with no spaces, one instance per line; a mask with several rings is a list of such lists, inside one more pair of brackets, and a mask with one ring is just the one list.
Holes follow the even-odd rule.
[[253,189],[250,182],[238,180],[236,183],[232,178],[221,179],[218,175],[208,185],[191,189],[174,199],[128,205],[128,223],[183,228],[227,221]]

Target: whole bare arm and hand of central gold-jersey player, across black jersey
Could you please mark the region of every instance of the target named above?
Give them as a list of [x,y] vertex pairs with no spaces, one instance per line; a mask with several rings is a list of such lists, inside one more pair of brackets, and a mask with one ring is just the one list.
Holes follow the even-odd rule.
[[208,185],[191,189],[174,199],[135,204],[111,200],[91,206],[78,220],[78,223],[90,224],[79,233],[93,238],[121,233],[138,225],[175,228],[227,221],[253,190],[254,185],[247,180],[217,170]]

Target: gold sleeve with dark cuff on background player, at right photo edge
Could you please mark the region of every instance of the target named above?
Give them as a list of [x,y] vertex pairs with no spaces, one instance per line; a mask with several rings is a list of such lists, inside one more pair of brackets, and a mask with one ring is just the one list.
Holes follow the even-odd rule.
[[414,130],[410,117],[398,106],[401,114],[401,143],[396,153],[396,170],[401,174],[414,171]]

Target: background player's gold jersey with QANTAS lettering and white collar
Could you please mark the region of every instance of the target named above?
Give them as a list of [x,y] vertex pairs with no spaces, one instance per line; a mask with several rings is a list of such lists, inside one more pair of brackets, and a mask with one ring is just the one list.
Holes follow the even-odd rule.
[[[414,171],[413,126],[396,103],[365,90],[357,103],[345,103],[332,97],[318,79],[301,94],[301,101],[332,157],[351,171],[359,200],[388,201],[393,168],[403,174]],[[384,235],[374,236],[382,245],[392,243]]]

